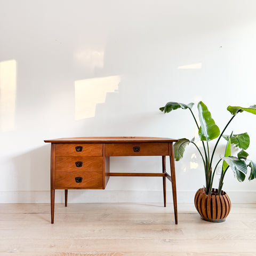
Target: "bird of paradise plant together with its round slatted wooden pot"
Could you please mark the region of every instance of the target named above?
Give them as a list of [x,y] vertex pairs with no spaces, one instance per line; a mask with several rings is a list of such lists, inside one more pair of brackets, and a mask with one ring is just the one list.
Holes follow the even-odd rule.
[[[169,113],[172,110],[179,108],[189,109],[191,115],[193,116],[198,129],[199,138],[202,141],[203,150],[199,149],[194,142],[194,139],[188,140],[186,138],[182,138],[178,142],[175,142],[173,146],[174,158],[175,161],[179,161],[183,157],[185,147],[189,143],[192,143],[196,147],[200,156],[202,157],[206,182],[204,188],[198,189],[195,195],[196,209],[201,215],[202,219],[212,222],[222,222],[225,221],[231,209],[230,199],[225,191],[222,190],[223,180],[228,169],[233,171],[235,177],[240,182],[245,180],[247,168],[250,169],[249,180],[253,180],[256,177],[256,162],[247,159],[249,154],[247,154],[245,151],[250,144],[249,135],[246,132],[242,134],[233,134],[232,132],[230,135],[225,135],[224,132],[238,113],[246,111],[255,115],[256,105],[250,106],[249,108],[228,106],[227,110],[232,116],[222,132],[220,132],[220,129],[215,124],[210,111],[202,101],[200,101],[197,105],[200,122],[200,124],[198,124],[192,111],[193,106],[194,103],[189,103],[186,105],[178,102],[168,102],[164,107],[159,109],[164,113]],[[213,156],[221,138],[227,140],[226,150],[223,152],[223,156],[220,156],[219,161],[217,163],[213,163]],[[217,141],[215,142],[213,150],[210,151],[209,142],[214,139],[217,139]],[[231,144],[234,144],[236,147],[241,149],[237,156],[231,155]],[[221,162],[222,169],[219,179],[219,187],[218,189],[214,189],[212,188],[214,174],[217,170],[217,166]]]

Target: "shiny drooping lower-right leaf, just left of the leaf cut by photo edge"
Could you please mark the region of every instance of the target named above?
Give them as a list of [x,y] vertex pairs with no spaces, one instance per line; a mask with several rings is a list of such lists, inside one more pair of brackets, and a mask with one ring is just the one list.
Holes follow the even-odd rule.
[[244,162],[244,160],[239,159],[235,156],[227,156],[223,157],[222,159],[225,160],[227,164],[230,166],[238,181],[244,181],[245,174],[247,173],[247,165]]

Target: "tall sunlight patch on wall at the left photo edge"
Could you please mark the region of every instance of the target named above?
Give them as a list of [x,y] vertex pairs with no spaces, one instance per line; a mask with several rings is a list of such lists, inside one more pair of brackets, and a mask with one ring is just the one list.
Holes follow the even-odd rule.
[[0,62],[0,119],[1,131],[14,130],[17,62],[7,60]]

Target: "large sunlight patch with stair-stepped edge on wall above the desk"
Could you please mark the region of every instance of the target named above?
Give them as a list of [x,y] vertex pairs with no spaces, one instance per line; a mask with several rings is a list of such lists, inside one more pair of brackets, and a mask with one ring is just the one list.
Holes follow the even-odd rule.
[[96,105],[106,101],[108,92],[116,92],[120,81],[120,76],[75,81],[75,120],[94,117]]

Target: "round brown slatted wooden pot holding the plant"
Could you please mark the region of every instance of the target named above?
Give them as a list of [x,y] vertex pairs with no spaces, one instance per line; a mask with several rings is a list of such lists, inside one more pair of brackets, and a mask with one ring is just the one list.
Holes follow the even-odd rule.
[[201,218],[211,222],[223,222],[231,210],[231,202],[225,191],[212,189],[211,195],[206,195],[205,188],[197,190],[195,195],[195,206]]

